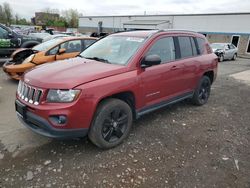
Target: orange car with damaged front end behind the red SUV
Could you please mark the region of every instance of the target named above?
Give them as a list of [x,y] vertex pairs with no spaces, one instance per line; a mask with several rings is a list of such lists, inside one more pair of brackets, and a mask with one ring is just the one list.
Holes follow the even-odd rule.
[[62,37],[33,48],[18,49],[11,55],[11,60],[3,65],[3,70],[11,78],[19,80],[26,70],[37,65],[76,57],[96,40],[94,37]]

